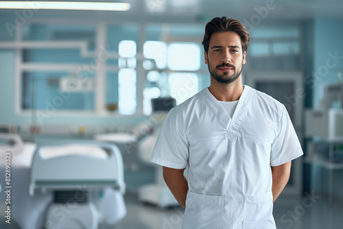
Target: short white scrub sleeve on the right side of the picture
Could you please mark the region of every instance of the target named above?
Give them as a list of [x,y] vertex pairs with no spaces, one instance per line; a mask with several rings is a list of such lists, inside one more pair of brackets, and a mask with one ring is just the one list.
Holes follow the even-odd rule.
[[272,143],[270,165],[279,166],[303,155],[303,149],[285,106],[282,105],[278,132]]

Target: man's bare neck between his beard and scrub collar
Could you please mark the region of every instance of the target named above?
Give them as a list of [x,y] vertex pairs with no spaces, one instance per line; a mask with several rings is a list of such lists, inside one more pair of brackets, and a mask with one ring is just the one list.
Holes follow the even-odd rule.
[[241,97],[243,89],[244,86],[238,79],[226,85],[211,80],[211,86],[209,86],[210,93],[219,101],[236,101]]

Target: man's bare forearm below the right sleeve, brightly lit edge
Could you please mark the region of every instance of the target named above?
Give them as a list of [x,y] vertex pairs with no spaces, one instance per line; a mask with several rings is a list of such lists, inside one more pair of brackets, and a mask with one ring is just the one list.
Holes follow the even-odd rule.
[[272,193],[273,193],[273,202],[280,195],[281,191],[285,188],[289,174],[291,172],[291,161],[286,162],[283,165],[272,167]]

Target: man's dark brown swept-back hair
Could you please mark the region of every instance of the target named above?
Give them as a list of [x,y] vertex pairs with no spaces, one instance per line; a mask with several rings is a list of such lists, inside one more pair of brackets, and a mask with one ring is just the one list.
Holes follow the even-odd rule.
[[222,18],[216,17],[207,23],[205,27],[204,39],[202,45],[204,45],[204,51],[209,52],[209,44],[212,34],[215,32],[235,32],[241,38],[241,49],[246,51],[250,43],[250,35],[246,27],[236,19],[226,19],[226,16]]

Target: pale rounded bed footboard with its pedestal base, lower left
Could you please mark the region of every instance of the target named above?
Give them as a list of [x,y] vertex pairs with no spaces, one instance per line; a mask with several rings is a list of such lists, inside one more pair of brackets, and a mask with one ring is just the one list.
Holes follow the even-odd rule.
[[[116,145],[66,141],[37,147],[32,160],[29,194],[34,196],[36,189],[54,191],[45,227],[96,229],[100,216],[89,191],[108,187],[122,194],[126,189],[123,161]],[[59,209],[64,209],[66,214],[58,214]]]

